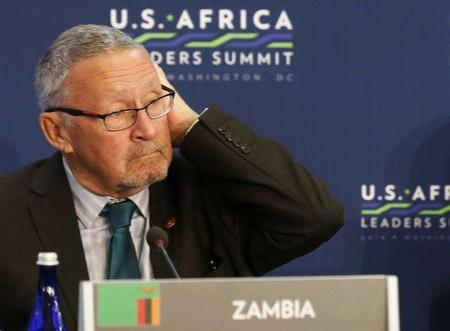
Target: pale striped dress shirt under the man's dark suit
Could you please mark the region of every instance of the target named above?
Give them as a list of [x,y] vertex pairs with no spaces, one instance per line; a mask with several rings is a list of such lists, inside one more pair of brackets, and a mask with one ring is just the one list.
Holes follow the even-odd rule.
[[[100,216],[100,213],[107,203],[116,200],[112,197],[97,195],[86,189],[77,181],[64,157],[63,163],[72,190],[89,279],[106,279],[112,230],[108,218]],[[150,223],[150,192],[148,189],[144,189],[129,199],[137,206],[131,219],[130,234],[136,249],[139,269],[143,279],[150,279],[152,275],[150,248],[145,240]]]

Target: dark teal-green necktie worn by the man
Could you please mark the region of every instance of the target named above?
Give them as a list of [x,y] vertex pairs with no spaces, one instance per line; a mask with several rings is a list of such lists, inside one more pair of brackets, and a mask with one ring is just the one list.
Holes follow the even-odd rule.
[[108,204],[101,215],[109,218],[112,238],[109,244],[108,279],[141,278],[139,264],[130,235],[130,223],[136,205],[129,199]]

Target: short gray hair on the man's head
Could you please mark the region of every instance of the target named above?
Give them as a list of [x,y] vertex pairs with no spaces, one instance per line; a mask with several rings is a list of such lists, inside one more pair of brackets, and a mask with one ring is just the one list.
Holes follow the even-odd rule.
[[145,48],[127,34],[104,25],[78,25],[58,36],[36,69],[39,107],[62,106],[67,96],[64,80],[78,60],[124,48]]

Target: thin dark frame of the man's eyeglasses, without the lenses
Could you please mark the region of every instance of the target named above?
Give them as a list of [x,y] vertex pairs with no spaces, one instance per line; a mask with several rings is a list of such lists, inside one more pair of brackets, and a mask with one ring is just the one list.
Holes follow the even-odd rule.
[[139,111],[145,109],[145,112],[147,113],[147,116],[148,116],[149,118],[151,118],[151,119],[154,120],[154,119],[158,119],[158,118],[161,118],[161,117],[167,115],[167,114],[172,110],[172,107],[170,107],[167,111],[165,111],[163,114],[158,115],[158,116],[151,116],[151,115],[147,112],[147,108],[148,108],[152,103],[155,103],[155,102],[161,100],[162,98],[166,98],[166,97],[168,97],[168,96],[171,96],[172,99],[175,98],[175,91],[174,91],[173,89],[171,89],[170,87],[167,87],[167,86],[165,86],[165,85],[162,85],[162,84],[161,84],[161,88],[162,88],[164,91],[169,92],[169,93],[168,93],[168,94],[165,94],[165,95],[162,95],[162,96],[160,96],[159,98],[150,101],[149,104],[147,104],[146,106],[144,106],[144,107],[142,107],[142,108],[127,108],[127,109],[122,109],[122,110],[113,111],[113,112],[107,113],[107,114],[95,114],[95,113],[92,113],[92,112],[89,112],[89,111],[85,111],[85,110],[72,109],[72,108],[62,108],[62,107],[54,107],[54,108],[47,108],[47,109],[45,109],[45,110],[44,110],[44,113],[54,113],[54,112],[59,112],[59,113],[65,113],[65,114],[68,114],[68,115],[70,115],[70,116],[87,116],[87,117],[99,118],[99,119],[103,120],[103,124],[105,125],[106,130],[108,130],[108,131],[110,131],[110,132],[122,131],[122,130],[129,129],[129,128],[131,128],[133,125],[135,125],[135,124],[136,124],[136,121],[137,121],[137,116],[136,116],[136,118],[135,118],[133,124],[131,124],[130,126],[127,126],[126,128],[123,128],[123,129],[116,129],[116,130],[111,130],[111,129],[109,129],[109,128],[106,126],[106,118],[107,118],[108,116],[115,115],[115,114],[118,114],[118,113],[122,113],[122,112],[125,112],[125,111],[130,111],[130,110],[136,111],[136,114],[137,114],[137,112],[139,112]]

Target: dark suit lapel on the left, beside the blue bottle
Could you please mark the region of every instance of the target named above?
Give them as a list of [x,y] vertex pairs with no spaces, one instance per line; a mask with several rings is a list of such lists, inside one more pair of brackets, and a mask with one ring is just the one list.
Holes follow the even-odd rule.
[[36,194],[28,204],[31,217],[44,249],[58,253],[61,294],[76,321],[79,282],[88,280],[89,275],[72,193],[59,153],[43,165],[30,189]]

